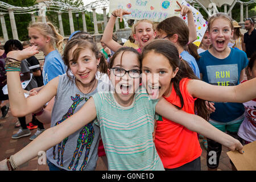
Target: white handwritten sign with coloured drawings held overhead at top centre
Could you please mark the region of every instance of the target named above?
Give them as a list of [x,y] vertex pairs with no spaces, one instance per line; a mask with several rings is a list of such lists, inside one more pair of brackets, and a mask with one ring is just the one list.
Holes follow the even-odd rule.
[[[177,0],[181,3],[181,0]],[[180,9],[176,0],[110,0],[109,12],[115,9],[123,9],[131,14],[125,15],[126,19],[148,19],[152,22],[160,22],[170,16],[179,16]],[[111,15],[111,13],[109,13]]]

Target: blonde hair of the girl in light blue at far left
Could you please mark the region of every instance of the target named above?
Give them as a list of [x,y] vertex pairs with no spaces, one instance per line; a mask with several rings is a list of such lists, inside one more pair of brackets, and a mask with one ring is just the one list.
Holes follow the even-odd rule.
[[40,32],[40,34],[44,36],[49,36],[51,45],[53,47],[56,46],[56,49],[60,52],[60,54],[63,53],[64,38],[62,35],[59,34],[59,32],[57,32],[55,26],[53,26],[52,23],[35,22],[28,26],[28,30],[30,28],[36,28]]

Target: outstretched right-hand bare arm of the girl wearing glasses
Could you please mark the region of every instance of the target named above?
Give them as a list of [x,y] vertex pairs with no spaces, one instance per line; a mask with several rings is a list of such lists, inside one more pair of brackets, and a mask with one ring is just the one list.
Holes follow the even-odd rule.
[[156,104],[155,110],[156,113],[162,115],[163,117],[179,123],[191,131],[195,131],[196,133],[221,143],[230,148],[232,151],[239,150],[239,152],[242,154],[243,146],[237,139],[234,139],[230,135],[218,130],[216,127],[210,125],[210,123],[198,115],[189,114],[183,110],[177,109],[163,97],[160,98],[158,104]]

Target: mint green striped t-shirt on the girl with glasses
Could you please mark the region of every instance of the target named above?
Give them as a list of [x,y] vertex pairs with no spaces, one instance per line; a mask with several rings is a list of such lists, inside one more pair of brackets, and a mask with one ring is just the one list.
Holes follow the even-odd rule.
[[128,107],[119,105],[113,93],[93,95],[109,170],[164,170],[152,139],[158,100],[140,91]]

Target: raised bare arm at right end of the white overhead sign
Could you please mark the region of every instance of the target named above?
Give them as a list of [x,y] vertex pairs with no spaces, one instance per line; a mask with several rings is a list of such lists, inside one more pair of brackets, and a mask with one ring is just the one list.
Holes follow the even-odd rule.
[[180,11],[181,16],[185,16],[187,14],[188,18],[188,30],[189,30],[189,42],[194,42],[197,39],[197,34],[196,34],[196,24],[194,20],[194,16],[192,13],[192,10],[186,6],[186,5],[180,5],[179,2],[177,2],[177,5],[180,6],[179,10],[175,11]]

